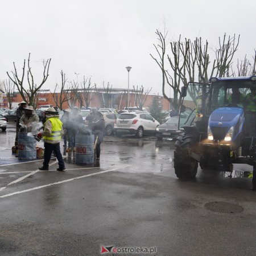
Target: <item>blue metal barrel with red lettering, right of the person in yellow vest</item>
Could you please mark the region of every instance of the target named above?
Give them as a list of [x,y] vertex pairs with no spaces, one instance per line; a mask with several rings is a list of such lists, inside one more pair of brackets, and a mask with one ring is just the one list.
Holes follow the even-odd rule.
[[76,164],[94,163],[94,135],[76,134]]

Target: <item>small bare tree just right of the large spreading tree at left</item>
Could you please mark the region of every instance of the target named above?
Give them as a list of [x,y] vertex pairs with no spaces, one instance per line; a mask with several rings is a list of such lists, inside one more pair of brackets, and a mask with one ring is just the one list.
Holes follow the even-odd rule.
[[68,97],[68,88],[67,87],[67,78],[66,78],[66,74],[63,72],[63,70],[60,71],[60,75],[61,75],[61,86],[60,86],[60,92],[56,92],[57,88],[59,88],[59,85],[56,84],[55,85],[55,89],[53,91],[52,94],[52,98],[53,101],[55,102],[55,105],[57,106],[57,108],[59,108],[60,110],[63,109],[63,104],[64,102],[69,100]]

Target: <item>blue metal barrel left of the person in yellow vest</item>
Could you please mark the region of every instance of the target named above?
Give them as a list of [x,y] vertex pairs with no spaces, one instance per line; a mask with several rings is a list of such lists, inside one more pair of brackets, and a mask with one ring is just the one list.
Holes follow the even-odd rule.
[[18,159],[36,159],[36,140],[33,136],[28,136],[27,133],[18,133]]

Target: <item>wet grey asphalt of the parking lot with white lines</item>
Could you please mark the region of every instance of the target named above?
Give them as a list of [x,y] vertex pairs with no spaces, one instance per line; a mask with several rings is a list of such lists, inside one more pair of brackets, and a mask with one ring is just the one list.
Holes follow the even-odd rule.
[[[63,149],[67,170],[53,158],[36,171],[42,160],[20,162],[14,139],[9,123],[0,132],[0,255],[110,255],[102,246],[114,246],[111,255],[255,255],[256,196],[240,177],[250,166],[235,166],[233,179],[199,167],[195,180],[180,181],[173,141],[110,136],[99,163],[77,165]],[[243,210],[214,212],[209,202]]]

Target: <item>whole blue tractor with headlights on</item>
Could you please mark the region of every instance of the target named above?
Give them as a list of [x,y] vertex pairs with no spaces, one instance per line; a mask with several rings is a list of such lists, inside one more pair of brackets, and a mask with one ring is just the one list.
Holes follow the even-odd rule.
[[256,189],[256,76],[189,82],[181,96],[184,133],[175,143],[176,176],[194,178],[198,163],[202,169],[229,172],[234,163],[250,164]]

